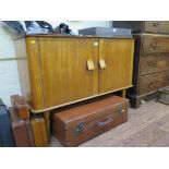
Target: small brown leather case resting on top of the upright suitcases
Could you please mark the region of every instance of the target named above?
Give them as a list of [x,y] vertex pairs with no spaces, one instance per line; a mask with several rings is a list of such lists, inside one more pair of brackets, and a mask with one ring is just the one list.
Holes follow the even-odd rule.
[[12,95],[11,104],[15,108],[20,119],[29,119],[29,109],[26,99],[23,96]]

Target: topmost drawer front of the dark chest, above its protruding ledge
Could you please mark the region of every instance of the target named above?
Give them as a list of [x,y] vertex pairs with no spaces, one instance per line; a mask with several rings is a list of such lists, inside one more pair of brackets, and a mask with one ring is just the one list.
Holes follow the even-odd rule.
[[145,32],[169,33],[169,22],[168,21],[145,21]]

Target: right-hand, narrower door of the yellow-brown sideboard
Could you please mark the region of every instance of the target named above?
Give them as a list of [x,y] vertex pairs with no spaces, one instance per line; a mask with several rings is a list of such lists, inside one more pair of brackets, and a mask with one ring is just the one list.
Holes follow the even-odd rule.
[[99,40],[99,93],[132,85],[133,39]]

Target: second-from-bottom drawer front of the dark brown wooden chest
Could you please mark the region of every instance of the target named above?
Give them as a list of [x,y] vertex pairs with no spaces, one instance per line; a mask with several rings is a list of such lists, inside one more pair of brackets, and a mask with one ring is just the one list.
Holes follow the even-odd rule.
[[169,53],[141,57],[141,75],[169,70]]

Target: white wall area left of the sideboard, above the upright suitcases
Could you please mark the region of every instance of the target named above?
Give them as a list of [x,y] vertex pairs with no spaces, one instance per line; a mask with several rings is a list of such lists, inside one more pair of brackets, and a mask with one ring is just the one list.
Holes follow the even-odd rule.
[[13,57],[13,38],[0,23],[0,98],[7,105],[10,105],[11,95],[21,94],[16,60],[5,60]]

